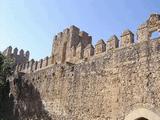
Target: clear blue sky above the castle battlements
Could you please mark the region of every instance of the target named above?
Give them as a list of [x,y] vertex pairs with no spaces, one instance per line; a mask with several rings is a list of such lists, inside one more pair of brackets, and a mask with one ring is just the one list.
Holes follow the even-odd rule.
[[71,25],[105,41],[129,28],[133,32],[160,0],[0,0],[0,51],[23,48],[35,59],[51,54],[55,34]]

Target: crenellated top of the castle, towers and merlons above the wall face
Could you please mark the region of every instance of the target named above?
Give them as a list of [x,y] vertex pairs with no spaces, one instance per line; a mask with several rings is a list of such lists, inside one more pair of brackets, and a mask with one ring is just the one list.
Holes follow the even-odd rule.
[[[109,51],[118,51],[121,48],[127,48],[130,46],[141,45],[145,41],[153,42],[153,48],[157,49],[155,40],[159,41],[159,38],[151,40],[153,32],[160,32],[160,15],[152,14],[149,19],[140,25],[137,30],[137,39],[135,35],[129,29],[122,32],[120,39],[113,35],[108,40],[100,39],[95,46],[92,45],[92,37],[85,31],[81,31],[76,26],[71,26],[59,32],[55,35],[52,45],[52,53],[50,57],[46,57],[39,61],[29,60],[29,51],[24,52],[15,48],[12,51],[12,47],[8,47],[4,54],[6,56],[14,55],[16,58],[25,58],[23,62],[17,62],[17,71],[33,72],[40,69],[45,69],[48,66],[54,64],[72,63],[78,64],[83,61],[89,61],[97,56],[103,56],[108,54]],[[160,37],[160,36],[159,36]],[[135,43],[137,41],[137,43]],[[154,46],[155,45],[155,46]],[[21,61],[21,60],[20,60]],[[24,62],[25,61],[25,62]]]

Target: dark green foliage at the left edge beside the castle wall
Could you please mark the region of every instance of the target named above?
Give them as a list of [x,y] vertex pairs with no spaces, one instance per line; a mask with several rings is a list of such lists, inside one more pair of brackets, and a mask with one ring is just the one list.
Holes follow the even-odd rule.
[[7,77],[12,74],[13,60],[0,53],[0,120],[9,120],[13,100],[9,98],[10,86]]

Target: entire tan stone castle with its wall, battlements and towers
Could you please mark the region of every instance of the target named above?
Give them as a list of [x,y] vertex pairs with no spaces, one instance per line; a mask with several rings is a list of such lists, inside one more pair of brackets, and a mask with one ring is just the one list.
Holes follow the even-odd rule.
[[[51,55],[35,61],[8,47],[16,61],[9,77],[14,113],[23,120],[160,120],[160,15],[151,14],[121,39],[92,45],[71,26],[53,40]],[[40,107],[41,106],[41,107]],[[46,113],[44,115],[44,113]]]

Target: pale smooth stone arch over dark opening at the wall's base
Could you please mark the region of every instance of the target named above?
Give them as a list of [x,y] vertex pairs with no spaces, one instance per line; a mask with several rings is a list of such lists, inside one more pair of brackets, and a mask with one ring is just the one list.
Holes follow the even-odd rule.
[[160,116],[151,110],[140,108],[129,113],[125,120],[160,120]]

